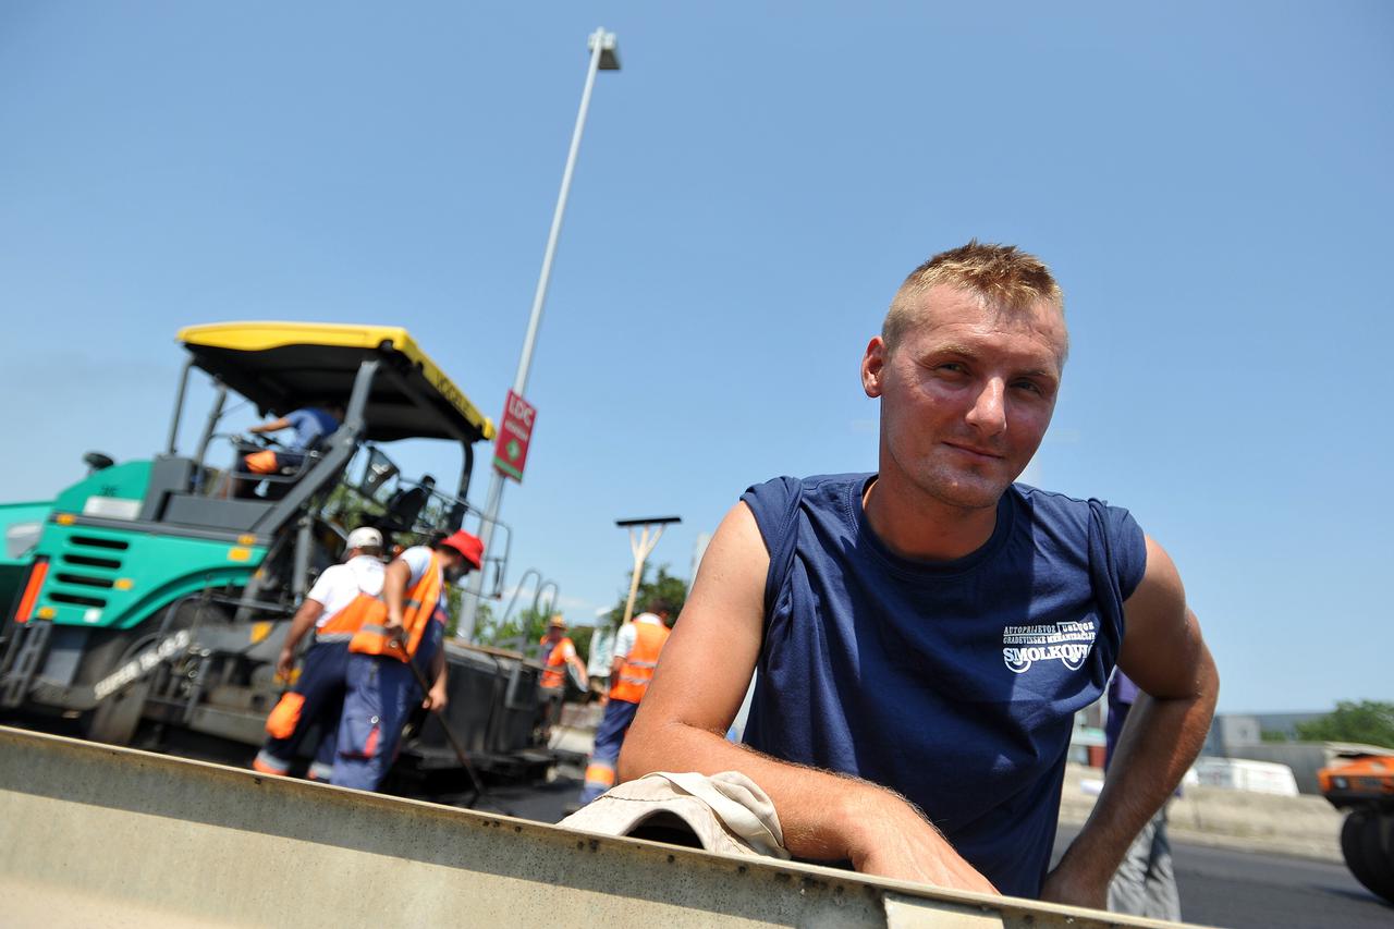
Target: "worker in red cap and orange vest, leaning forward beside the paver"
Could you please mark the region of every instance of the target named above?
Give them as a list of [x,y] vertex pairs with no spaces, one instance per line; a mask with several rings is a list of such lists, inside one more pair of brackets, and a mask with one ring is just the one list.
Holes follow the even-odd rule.
[[[434,548],[403,551],[388,565],[382,597],[360,597],[346,610],[357,607],[362,615],[348,642],[348,692],[330,777],[336,787],[376,790],[415,703],[445,709],[446,584],[482,565],[484,544],[457,531]],[[431,683],[427,693],[408,663]]]

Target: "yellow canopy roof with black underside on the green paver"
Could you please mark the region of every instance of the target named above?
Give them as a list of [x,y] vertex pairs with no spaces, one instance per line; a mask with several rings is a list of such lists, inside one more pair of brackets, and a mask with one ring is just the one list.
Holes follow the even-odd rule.
[[[213,322],[180,329],[195,364],[263,413],[348,402],[358,365],[385,361],[365,413],[368,438],[493,438],[493,421],[401,326],[339,322]],[[388,377],[383,377],[386,374]]]

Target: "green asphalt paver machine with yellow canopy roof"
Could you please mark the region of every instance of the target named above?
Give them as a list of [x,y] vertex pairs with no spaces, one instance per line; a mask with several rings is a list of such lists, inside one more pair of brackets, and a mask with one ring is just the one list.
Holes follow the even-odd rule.
[[[10,593],[0,713],[67,717],[113,743],[152,721],[258,745],[284,686],[275,660],[290,617],[342,558],[347,533],[368,523],[389,545],[408,545],[459,529],[471,512],[473,449],[493,423],[406,329],[227,322],[185,328],[178,342],[188,360],[163,453],[120,463],[88,455],[86,477],[52,502],[0,506]],[[185,453],[180,425],[199,375],[212,403]],[[283,455],[289,466],[234,474],[241,456],[275,448],[224,431],[238,398],[262,416],[333,403],[344,418],[318,448]],[[399,439],[457,445],[456,484],[404,477],[383,448]],[[255,480],[255,492],[229,492],[238,478]],[[506,527],[493,538],[506,557]],[[487,557],[500,577],[505,557]],[[475,763],[545,766],[535,663],[459,643],[447,658],[443,723]],[[401,764],[457,764],[441,725],[424,721]]]

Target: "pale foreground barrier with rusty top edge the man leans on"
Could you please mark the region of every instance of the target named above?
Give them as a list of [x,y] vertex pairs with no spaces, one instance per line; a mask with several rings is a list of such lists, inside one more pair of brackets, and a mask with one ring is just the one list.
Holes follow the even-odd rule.
[[7,926],[1163,926],[0,727]]

